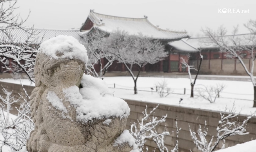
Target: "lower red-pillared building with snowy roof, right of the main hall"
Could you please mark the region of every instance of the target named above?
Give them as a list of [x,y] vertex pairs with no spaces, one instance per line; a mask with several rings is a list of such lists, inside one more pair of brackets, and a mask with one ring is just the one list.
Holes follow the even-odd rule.
[[[237,34],[237,35],[227,35],[223,39],[240,39],[244,45],[251,45],[252,41],[249,37],[252,34]],[[229,58],[225,53],[222,53],[218,46],[214,44],[207,43],[207,37],[191,37],[181,39],[179,41],[169,42],[173,46],[172,52],[178,52],[180,54],[190,54],[189,64],[198,67],[199,64],[199,54],[198,50],[201,50],[203,55],[203,61],[200,69],[200,74],[217,74],[217,75],[246,75],[243,66],[238,59]],[[230,43],[232,45],[232,43]],[[249,71],[251,70],[251,59],[250,51],[244,50],[241,52],[241,57],[243,57],[243,62]],[[178,58],[176,58],[178,60]],[[256,61],[254,61],[256,64]],[[183,70],[185,71],[185,69]],[[256,70],[254,69],[254,74]]]

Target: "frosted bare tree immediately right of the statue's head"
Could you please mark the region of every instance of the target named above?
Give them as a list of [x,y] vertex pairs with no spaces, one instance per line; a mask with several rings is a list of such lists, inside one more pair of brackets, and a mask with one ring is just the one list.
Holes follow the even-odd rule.
[[[116,60],[115,55],[105,50],[106,48],[104,47],[102,40],[107,36],[109,36],[109,34],[97,30],[82,36],[83,41],[81,41],[81,43],[84,44],[87,49],[89,58],[86,72],[87,74],[92,74],[96,78],[103,79],[109,67],[113,64],[114,60]],[[106,60],[107,63],[102,63],[103,60]],[[99,65],[99,71],[95,69],[96,65]]]

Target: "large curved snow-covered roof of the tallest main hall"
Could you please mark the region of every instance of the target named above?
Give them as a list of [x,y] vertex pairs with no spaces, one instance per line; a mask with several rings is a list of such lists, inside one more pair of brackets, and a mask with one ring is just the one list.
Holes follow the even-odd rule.
[[[97,29],[100,29],[107,33],[111,33],[115,30],[124,30],[129,34],[141,33],[143,35],[162,40],[178,40],[188,37],[187,32],[175,32],[158,28],[150,23],[146,17],[124,18],[99,14],[91,11],[88,18],[93,22],[93,27],[96,27]],[[86,20],[86,22],[87,21],[88,19]],[[81,31],[83,31],[85,24],[81,28]]]

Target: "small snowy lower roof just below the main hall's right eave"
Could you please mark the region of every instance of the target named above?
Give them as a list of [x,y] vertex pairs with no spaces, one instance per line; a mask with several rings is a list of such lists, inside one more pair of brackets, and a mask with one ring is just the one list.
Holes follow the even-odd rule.
[[179,41],[172,41],[168,43],[173,48],[177,49],[178,51],[184,52],[197,52],[199,51],[194,46],[186,42],[186,39],[181,39]]

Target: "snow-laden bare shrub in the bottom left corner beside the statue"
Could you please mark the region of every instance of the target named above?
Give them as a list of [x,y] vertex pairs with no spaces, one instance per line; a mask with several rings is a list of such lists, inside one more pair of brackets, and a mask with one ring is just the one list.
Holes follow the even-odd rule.
[[[12,91],[3,88],[3,92],[5,97],[0,96],[0,151],[4,148],[11,152],[20,151],[26,146],[27,137],[34,128],[30,118],[29,96],[25,89],[24,95],[20,94],[18,99],[15,99]],[[20,99],[23,99],[23,102]],[[21,103],[20,108],[15,107],[18,115],[11,115],[10,110],[13,104],[17,103]]]

